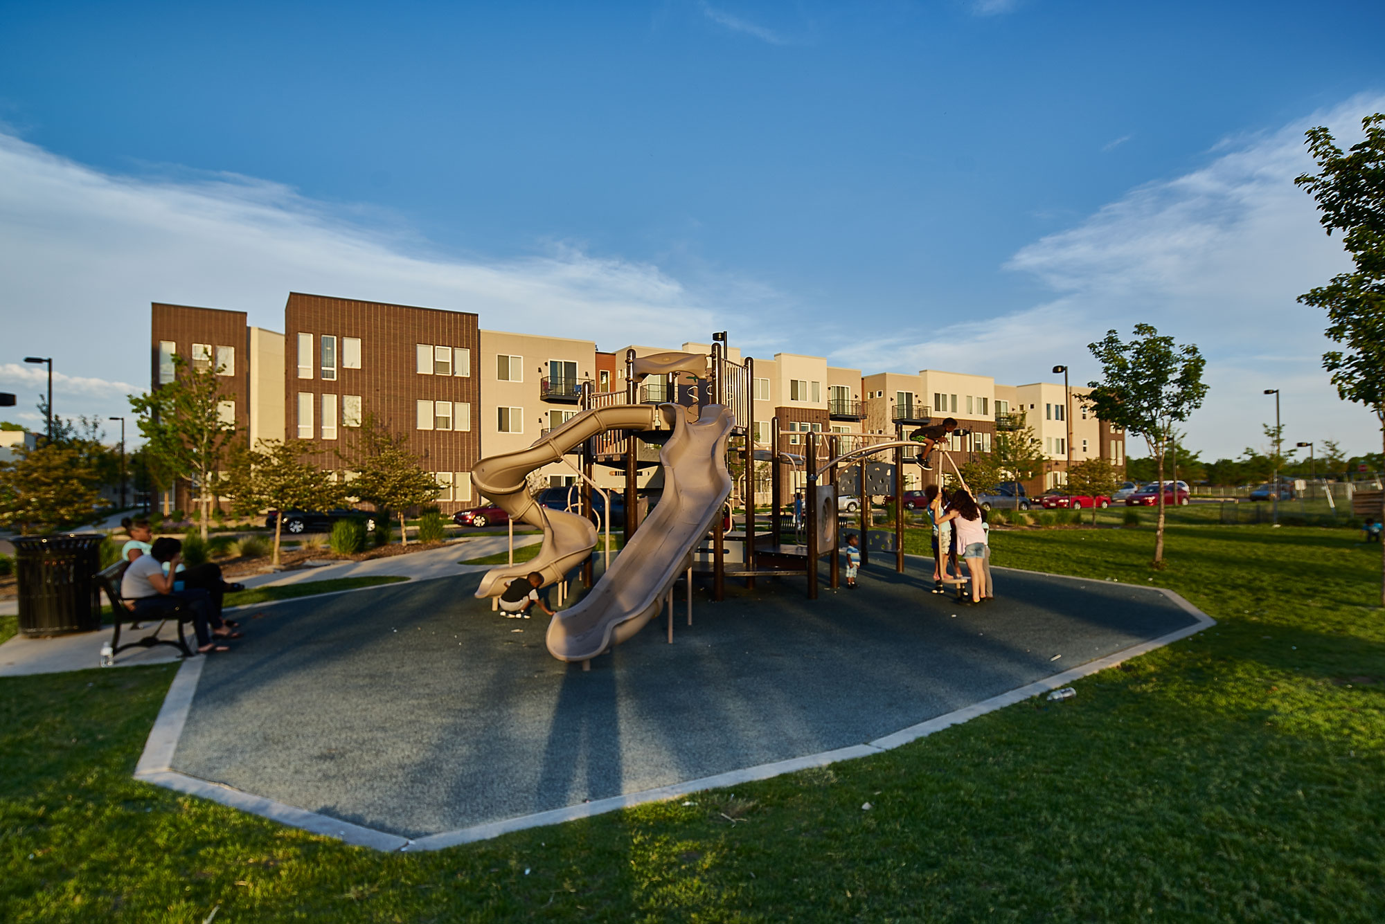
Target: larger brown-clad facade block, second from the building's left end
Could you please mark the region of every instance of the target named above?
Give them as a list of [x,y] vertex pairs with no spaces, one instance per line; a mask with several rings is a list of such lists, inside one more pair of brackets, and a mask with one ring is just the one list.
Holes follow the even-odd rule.
[[[309,355],[299,355],[299,335],[310,338]],[[335,338],[335,378],[324,379],[324,338]],[[346,368],[346,360],[353,358],[346,355],[346,338],[360,342],[360,368]],[[467,375],[457,373],[460,362],[456,361],[452,373],[420,373],[418,344],[467,350]],[[475,466],[481,455],[481,335],[475,314],[295,292],[284,308],[284,353],[285,436],[312,433],[314,441],[328,447],[312,458],[314,463],[348,468],[337,452],[349,456],[355,445],[356,430],[346,426],[345,416],[350,396],[360,398],[363,416],[374,415],[388,430],[407,434],[411,451],[427,470],[464,474]],[[299,378],[301,369],[310,378]],[[299,419],[299,394],[312,396],[310,429]],[[324,438],[323,396],[334,396],[335,440]],[[456,409],[453,429],[420,429],[420,400],[452,403]],[[458,405],[467,408],[465,421]],[[470,492],[470,481],[464,491]],[[440,501],[439,506],[443,513],[452,513],[472,503],[470,499]]]

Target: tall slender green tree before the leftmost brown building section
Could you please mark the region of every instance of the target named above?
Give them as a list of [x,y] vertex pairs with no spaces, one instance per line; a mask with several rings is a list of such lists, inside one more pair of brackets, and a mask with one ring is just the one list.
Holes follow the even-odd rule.
[[173,382],[148,394],[132,394],[129,400],[140,415],[140,433],[154,472],[186,477],[201,494],[198,519],[206,539],[212,499],[222,492],[237,429],[234,421],[224,419],[227,397],[217,371],[201,372],[176,354],[173,365],[177,371]]

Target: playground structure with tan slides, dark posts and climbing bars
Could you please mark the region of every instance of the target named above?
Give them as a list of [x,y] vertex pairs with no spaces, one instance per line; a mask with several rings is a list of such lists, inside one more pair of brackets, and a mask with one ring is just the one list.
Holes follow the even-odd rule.
[[[904,438],[906,423],[896,422],[895,434],[823,434],[803,432],[803,452],[781,450],[778,418],[770,426],[770,450],[755,448],[752,425],[752,382],[755,361],[726,357],[723,343],[705,353],[626,351],[626,387],[620,391],[582,389],[582,409],[569,421],[525,450],[488,456],[472,470],[479,495],[490,498],[511,523],[543,530],[537,556],[525,563],[492,569],[485,574],[478,598],[497,598],[510,581],[536,571],[543,585],[565,586],[573,569],[591,588],[575,606],[560,610],[547,631],[548,652],[562,661],[590,660],[623,642],[668,606],[672,640],[673,585],[688,581],[688,624],[691,624],[691,578],[709,574],[712,599],[724,598],[726,578],[755,586],[758,577],[802,575],[807,598],[817,599],[819,563],[830,559],[828,585],[839,585],[838,501],[845,484],[861,497],[859,512],[863,534],[861,557],[871,551],[895,553],[895,569],[904,570],[903,466],[904,450],[918,448]],[[925,418],[927,421],[927,418]],[[917,423],[917,422],[915,422]],[[734,441],[735,445],[729,448]],[[638,469],[654,465],[651,447],[662,445],[658,465],[662,494],[647,517],[641,517]],[[580,454],[580,468],[568,455]],[[867,462],[868,456],[893,452],[892,463]],[[738,477],[727,465],[734,459]],[[756,462],[770,461],[771,509],[769,530],[758,526]],[[528,474],[551,463],[565,462],[580,479],[580,510],[553,510],[539,505],[528,490]],[[608,562],[600,581],[593,582],[591,552],[597,545],[593,526],[596,465],[625,470],[625,548],[615,563]],[[802,470],[805,503],[794,541],[784,541],[784,469]],[[823,481],[825,476],[825,483]],[[740,491],[737,491],[740,488]],[[740,494],[745,510],[744,527],[727,530],[724,508]],[[871,497],[893,497],[893,534],[873,530]],[[604,509],[611,510],[605,503]],[[609,549],[609,517],[602,517]],[[512,548],[512,544],[511,544]],[[512,562],[512,557],[511,557]],[[594,584],[594,585],[593,585]]]

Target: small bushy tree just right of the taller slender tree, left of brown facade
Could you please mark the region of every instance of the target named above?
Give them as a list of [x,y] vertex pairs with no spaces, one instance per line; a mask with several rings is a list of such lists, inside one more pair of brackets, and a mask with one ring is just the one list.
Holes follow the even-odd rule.
[[266,509],[278,510],[274,520],[274,566],[278,566],[287,510],[330,510],[345,499],[345,486],[331,472],[302,461],[317,451],[319,447],[307,440],[260,440],[256,450],[235,447],[230,452],[223,490],[231,498],[235,513],[252,516]]

